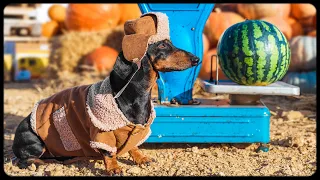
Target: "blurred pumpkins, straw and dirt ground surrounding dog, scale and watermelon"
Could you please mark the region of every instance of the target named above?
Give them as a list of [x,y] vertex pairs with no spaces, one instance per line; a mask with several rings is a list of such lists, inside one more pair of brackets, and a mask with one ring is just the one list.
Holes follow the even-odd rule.
[[[8,175],[103,174],[102,161],[75,166],[33,164],[21,170],[12,163],[14,133],[37,101],[66,88],[104,79],[121,51],[124,22],[140,15],[137,4],[9,4],[5,7],[3,162]],[[272,152],[255,154],[257,143],[238,146],[241,150],[228,144],[150,144],[143,151],[155,157],[158,164],[133,171],[136,167],[131,161],[127,163],[127,156],[119,161],[124,175],[310,176],[316,171],[316,9],[313,5],[215,4],[203,32],[203,63],[192,97],[228,99],[226,94],[201,90],[199,79],[210,78],[210,56],[216,53],[217,41],[224,30],[245,19],[269,21],[284,33],[292,55],[290,69],[282,81],[301,88],[301,96],[262,97],[272,115]],[[219,78],[226,79],[221,71]],[[157,98],[157,93],[155,85],[153,98]]]

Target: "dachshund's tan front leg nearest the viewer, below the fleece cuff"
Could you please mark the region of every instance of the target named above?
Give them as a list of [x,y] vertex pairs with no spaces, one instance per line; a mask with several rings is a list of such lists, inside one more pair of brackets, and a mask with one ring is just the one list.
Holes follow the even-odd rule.
[[108,151],[100,150],[100,149],[99,151],[103,157],[107,175],[109,176],[123,175],[122,170],[117,162],[116,153],[109,153]]

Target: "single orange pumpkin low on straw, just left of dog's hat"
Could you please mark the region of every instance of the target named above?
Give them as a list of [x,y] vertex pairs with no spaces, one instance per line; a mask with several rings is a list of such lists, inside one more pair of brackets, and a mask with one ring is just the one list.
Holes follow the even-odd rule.
[[86,64],[94,66],[99,72],[111,71],[116,62],[118,52],[108,46],[102,46],[88,54]]

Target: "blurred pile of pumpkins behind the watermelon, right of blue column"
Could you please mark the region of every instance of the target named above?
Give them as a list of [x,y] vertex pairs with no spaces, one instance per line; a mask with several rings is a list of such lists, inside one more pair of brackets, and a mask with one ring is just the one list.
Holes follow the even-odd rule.
[[[199,73],[201,79],[210,79],[211,56],[217,53],[216,47],[222,33],[228,27],[245,19],[270,22],[287,38],[291,48],[291,63],[283,81],[300,86],[302,92],[306,92],[305,89],[310,89],[310,86],[315,87],[316,8],[312,4],[215,4],[203,34],[204,55]],[[214,59],[212,62],[214,77],[215,62]],[[218,73],[219,79],[227,79],[221,68]],[[312,78],[308,79],[310,74],[314,77],[312,75]],[[304,80],[299,80],[300,76],[300,79]],[[313,83],[314,86],[302,84],[306,82]]]

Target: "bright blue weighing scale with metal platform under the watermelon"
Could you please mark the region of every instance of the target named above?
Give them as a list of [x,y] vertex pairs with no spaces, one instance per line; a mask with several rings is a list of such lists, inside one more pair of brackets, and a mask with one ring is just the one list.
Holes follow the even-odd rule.
[[[141,3],[142,13],[162,12],[169,18],[172,43],[200,57],[202,32],[214,4]],[[241,86],[230,81],[202,81],[211,93],[230,94],[230,99],[192,98],[194,82],[201,68],[160,72],[157,117],[151,126],[149,143],[262,143],[268,151],[270,111],[261,95],[299,95],[300,89],[283,82],[269,86]]]

